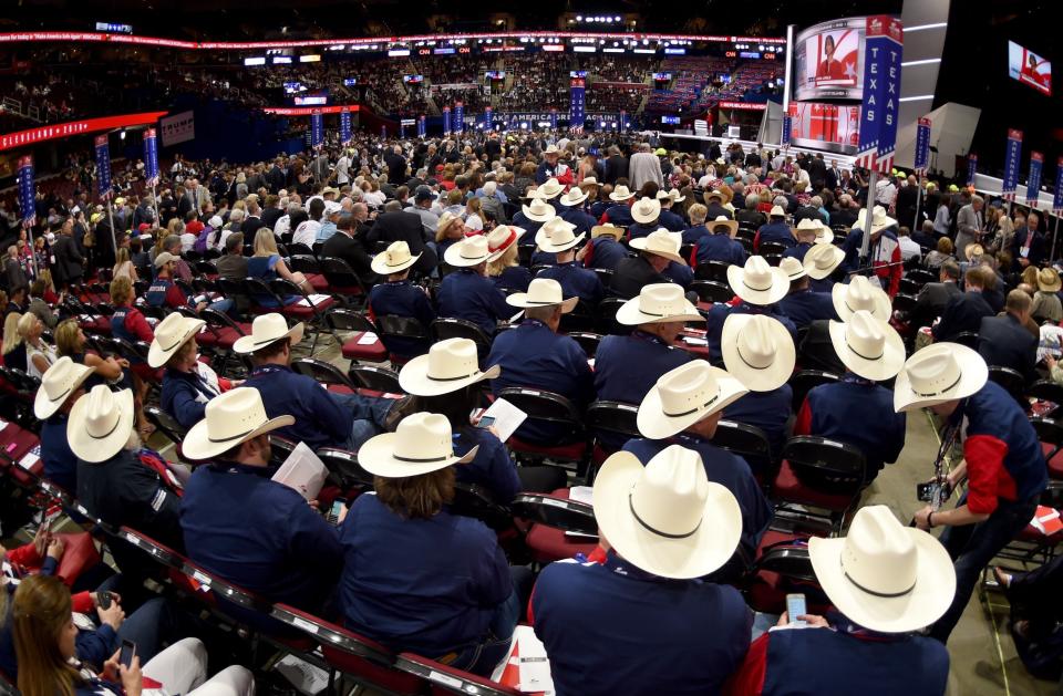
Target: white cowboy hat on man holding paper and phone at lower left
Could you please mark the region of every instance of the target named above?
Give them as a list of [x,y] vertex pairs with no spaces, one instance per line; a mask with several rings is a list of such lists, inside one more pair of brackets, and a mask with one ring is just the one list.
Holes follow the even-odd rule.
[[180,451],[189,459],[210,459],[295,422],[292,416],[270,418],[258,389],[237,387],[207,402],[203,420],[188,430]]

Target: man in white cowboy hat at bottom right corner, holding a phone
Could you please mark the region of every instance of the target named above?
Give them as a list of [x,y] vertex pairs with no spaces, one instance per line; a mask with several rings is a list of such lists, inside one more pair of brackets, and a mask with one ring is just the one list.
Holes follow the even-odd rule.
[[[933,537],[902,527],[886,506],[868,506],[844,538],[813,538],[808,554],[838,610],[835,625],[784,613],[750,646],[730,693],[767,696],[786,688],[773,685],[793,684],[823,696],[946,693],[949,653],[916,633],[945,612],[956,590]],[[797,621],[806,630],[793,630]]]

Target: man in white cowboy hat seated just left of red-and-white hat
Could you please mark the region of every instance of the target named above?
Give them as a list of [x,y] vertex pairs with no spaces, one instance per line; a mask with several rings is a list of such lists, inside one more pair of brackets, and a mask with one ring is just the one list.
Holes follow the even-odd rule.
[[443,258],[455,270],[443,278],[436,295],[440,316],[471,321],[488,336],[494,335],[499,321],[513,315],[505,295],[486,277],[492,256],[484,235],[451,245]]

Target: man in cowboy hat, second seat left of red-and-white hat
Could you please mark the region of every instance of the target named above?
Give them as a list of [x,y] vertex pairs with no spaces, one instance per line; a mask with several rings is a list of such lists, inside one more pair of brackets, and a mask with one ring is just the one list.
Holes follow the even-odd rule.
[[427,353],[432,344],[429,336],[435,309],[429,293],[410,282],[410,269],[416,262],[417,257],[410,254],[410,247],[404,241],[391,242],[386,250],[373,257],[372,262],[373,272],[385,279],[369,292],[369,309],[376,321],[384,316],[400,316],[416,320],[423,329],[424,337],[421,339],[382,332],[381,340],[389,353],[400,362]]

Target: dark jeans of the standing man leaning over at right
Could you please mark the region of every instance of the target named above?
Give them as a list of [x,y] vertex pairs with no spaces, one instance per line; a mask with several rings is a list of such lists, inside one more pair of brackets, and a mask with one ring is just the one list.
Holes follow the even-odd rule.
[[[949,642],[949,634],[963,615],[982,570],[1030,523],[1039,499],[1040,495],[1019,502],[1001,500],[989,519],[977,524],[950,527],[942,532],[941,543],[952,557],[956,569],[956,596],[949,610],[933,624],[930,637]],[[963,494],[957,507],[966,502],[967,494]]]

